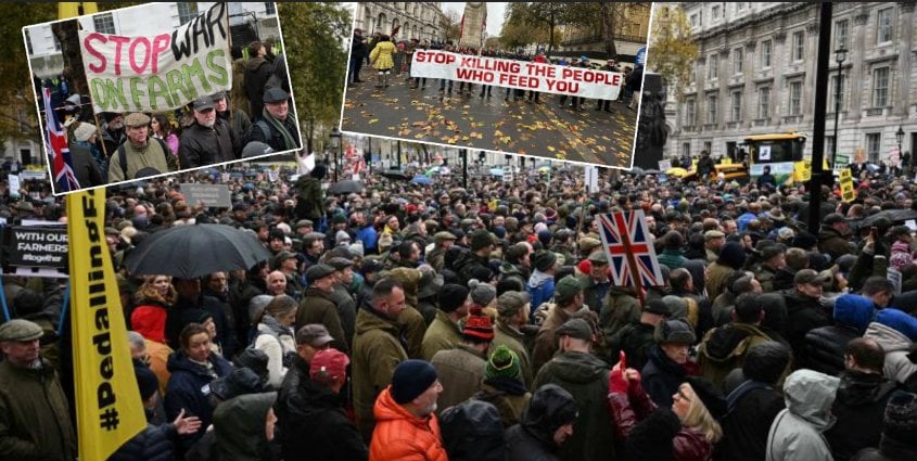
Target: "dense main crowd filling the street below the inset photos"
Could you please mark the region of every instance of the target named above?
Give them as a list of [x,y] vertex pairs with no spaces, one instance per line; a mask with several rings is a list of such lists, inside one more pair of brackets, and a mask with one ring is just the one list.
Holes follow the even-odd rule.
[[[150,421],[113,459],[917,459],[914,230],[888,217],[917,209],[909,177],[857,169],[845,203],[651,175],[586,194],[574,167],[467,188],[373,174],[329,195],[321,162],[300,172],[232,176],[228,209],[183,200],[200,175],[110,192],[120,346]],[[65,219],[2,201],[9,222]],[[636,209],[663,276],[645,294],[613,283],[597,220]],[[205,223],[271,257],[200,279],[124,267]],[[65,281],[3,289],[0,458],[72,460]]]

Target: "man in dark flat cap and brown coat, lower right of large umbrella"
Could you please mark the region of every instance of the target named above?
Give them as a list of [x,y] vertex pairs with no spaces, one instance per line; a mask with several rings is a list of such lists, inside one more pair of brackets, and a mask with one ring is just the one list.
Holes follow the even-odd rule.
[[345,337],[337,306],[331,299],[334,283],[337,281],[334,276],[336,272],[334,267],[321,262],[306,270],[309,286],[306,289],[302,303],[300,303],[300,310],[296,311],[296,330],[309,323],[321,323],[334,337],[331,347],[346,353],[351,350],[347,347],[349,338]]

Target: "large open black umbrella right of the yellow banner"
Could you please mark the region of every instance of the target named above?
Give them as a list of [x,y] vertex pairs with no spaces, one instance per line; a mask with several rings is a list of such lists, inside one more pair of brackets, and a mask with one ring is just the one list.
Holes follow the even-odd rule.
[[194,279],[250,269],[269,257],[270,252],[244,231],[226,225],[194,225],[154,232],[127,255],[124,265],[132,276]]

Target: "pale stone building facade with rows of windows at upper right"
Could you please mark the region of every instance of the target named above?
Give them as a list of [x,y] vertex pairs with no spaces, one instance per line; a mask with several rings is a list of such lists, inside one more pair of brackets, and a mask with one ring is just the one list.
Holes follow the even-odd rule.
[[[790,2],[682,3],[699,57],[675,102],[666,156],[713,157],[748,135],[797,131],[811,138],[819,7]],[[838,155],[871,162],[917,149],[917,24],[906,2],[835,3],[831,49],[840,65]],[[652,50],[650,50],[650,53]],[[835,145],[838,63],[829,68],[826,153]],[[671,92],[670,92],[671,93]],[[805,153],[812,152],[811,140]]]

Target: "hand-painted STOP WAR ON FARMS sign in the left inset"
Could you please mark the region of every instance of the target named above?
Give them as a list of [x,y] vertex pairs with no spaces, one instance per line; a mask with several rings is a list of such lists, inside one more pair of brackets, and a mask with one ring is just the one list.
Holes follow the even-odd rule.
[[230,90],[229,21],[224,2],[191,22],[152,36],[79,31],[92,108],[167,111]]

